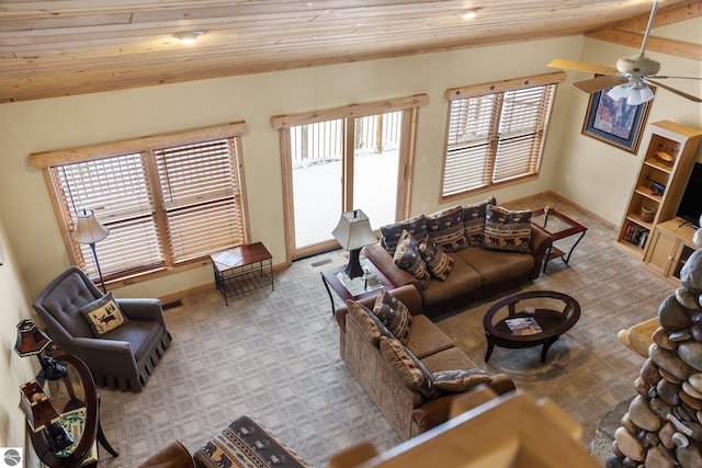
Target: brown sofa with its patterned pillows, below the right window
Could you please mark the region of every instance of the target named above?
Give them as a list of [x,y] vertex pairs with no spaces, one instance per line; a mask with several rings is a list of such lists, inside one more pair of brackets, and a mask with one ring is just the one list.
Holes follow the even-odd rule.
[[[381,240],[362,253],[396,287],[415,285],[423,313],[434,316],[539,277],[552,240],[530,219],[531,212],[505,209],[492,197],[381,227]],[[432,243],[437,254],[428,259]],[[429,272],[418,259],[428,260]]]

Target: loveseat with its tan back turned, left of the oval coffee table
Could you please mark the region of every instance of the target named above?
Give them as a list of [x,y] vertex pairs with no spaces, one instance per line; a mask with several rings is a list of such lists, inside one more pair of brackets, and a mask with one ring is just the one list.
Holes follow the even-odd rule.
[[[390,342],[388,336],[383,335],[387,331],[374,333],[376,321],[366,317],[367,311],[375,316],[373,309],[377,310],[377,304],[384,303],[387,297],[399,301],[408,311],[407,319],[390,323],[390,328],[406,327],[406,331],[399,334],[409,355],[403,359],[388,358],[388,354],[393,357],[396,355],[386,345]],[[421,307],[422,298],[417,288],[406,285],[389,293],[383,292],[374,298],[358,303],[350,300],[347,307],[335,312],[339,326],[341,357],[403,440],[448,421],[454,398],[477,385],[486,384],[498,395],[514,389],[514,384],[508,376],[489,376],[478,369],[449,336],[421,313]],[[414,368],[409,373],[398,369],[408,363]],[[417,366],[423,367],[423,375]],[[450,370],[463,373],[455,379],[454,373],[448,373]],[[451,379],[448,391],[445,386],[442,386],[444,389],[438,388],[440,375]],[[408,378],[412,380],[411,386],[407,384]]]

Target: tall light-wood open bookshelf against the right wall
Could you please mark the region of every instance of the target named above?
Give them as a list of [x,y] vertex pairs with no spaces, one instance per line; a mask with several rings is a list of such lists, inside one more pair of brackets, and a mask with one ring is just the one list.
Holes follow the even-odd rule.
[[[698,128],[670,121],[650,124],[650,141],[616,239],[642,260],[656,225],[675,217],[701,140]],[[655,210],[653,219],[642,219],[644,207]]]

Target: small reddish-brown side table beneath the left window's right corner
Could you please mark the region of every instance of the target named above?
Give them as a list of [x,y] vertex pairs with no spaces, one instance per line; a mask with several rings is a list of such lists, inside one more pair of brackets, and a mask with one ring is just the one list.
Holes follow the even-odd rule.
[[210,255],[215,286],[228,306],[228,297],[273,285],[273,256],[261,243],[235,247]]

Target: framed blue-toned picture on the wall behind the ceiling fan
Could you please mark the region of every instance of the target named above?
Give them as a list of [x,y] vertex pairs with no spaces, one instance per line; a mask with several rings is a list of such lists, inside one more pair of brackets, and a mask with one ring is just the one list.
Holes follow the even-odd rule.
[[[656,92],[654,87],[650,89]],[[653,100],[630,105],[626,98],[615,101],[607,95],[609,90],[590,94],[582,134],[635,153]]]

